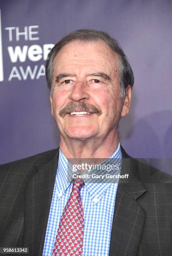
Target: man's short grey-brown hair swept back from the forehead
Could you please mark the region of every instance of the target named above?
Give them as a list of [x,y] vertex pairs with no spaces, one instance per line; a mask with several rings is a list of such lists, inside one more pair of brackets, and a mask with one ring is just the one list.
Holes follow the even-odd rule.
[[120,47],[117,40],[111,38],[107,33],[95,29],[79,29],[67,34],[63,37],[50,51],[47,57],[47,64],[45,67],[45,74],[47,79],[47,85],[52,93],[52,79],[54,59],[60,49],[71,41],[97,41],[102,39],[105,43],[117,54],[118,56],[118,74],[120,78],[121,98],[124,99],[126,95],[126,88],[130,84],[133,87],[134,75],[130,64],[125,56],[124,51]]

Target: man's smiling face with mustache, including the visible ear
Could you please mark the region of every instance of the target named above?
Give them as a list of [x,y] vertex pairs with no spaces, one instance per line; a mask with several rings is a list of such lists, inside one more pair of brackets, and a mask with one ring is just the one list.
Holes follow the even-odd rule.
[[61,136],[74,140],[114,136],[130,107],[120,98],[117,55],[104,41],[72,41],[55,57],[52,115]]

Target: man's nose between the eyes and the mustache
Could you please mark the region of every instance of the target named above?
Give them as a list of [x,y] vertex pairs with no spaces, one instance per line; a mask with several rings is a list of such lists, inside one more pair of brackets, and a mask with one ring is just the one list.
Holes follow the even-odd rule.
[[70,100],[77,102],[85,102],[90,98],[87,92],[87,85],[84,82],[76,82],[72,88],[72,92],[69,95]]

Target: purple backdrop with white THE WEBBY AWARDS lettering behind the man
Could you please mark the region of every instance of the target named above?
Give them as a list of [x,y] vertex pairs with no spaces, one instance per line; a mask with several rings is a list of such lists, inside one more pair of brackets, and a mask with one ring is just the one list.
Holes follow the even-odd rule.
[[57,147],[44,59],[79,28],[110,33],[132,66],[132,107],[120,122],[127,153],[172,157],[172,1],[7,0],[0,10],[1,164]]

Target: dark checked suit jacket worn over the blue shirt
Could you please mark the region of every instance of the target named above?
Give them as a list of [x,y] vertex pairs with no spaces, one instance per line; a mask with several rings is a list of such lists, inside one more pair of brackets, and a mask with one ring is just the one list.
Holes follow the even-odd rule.
[[[0,166],[0,246],[42,255],[59,150]],[[110,256],[172,256],[172,177],[131,159],[122,174],[112,222]],[[16,255],[16,254],[15,254]]]

